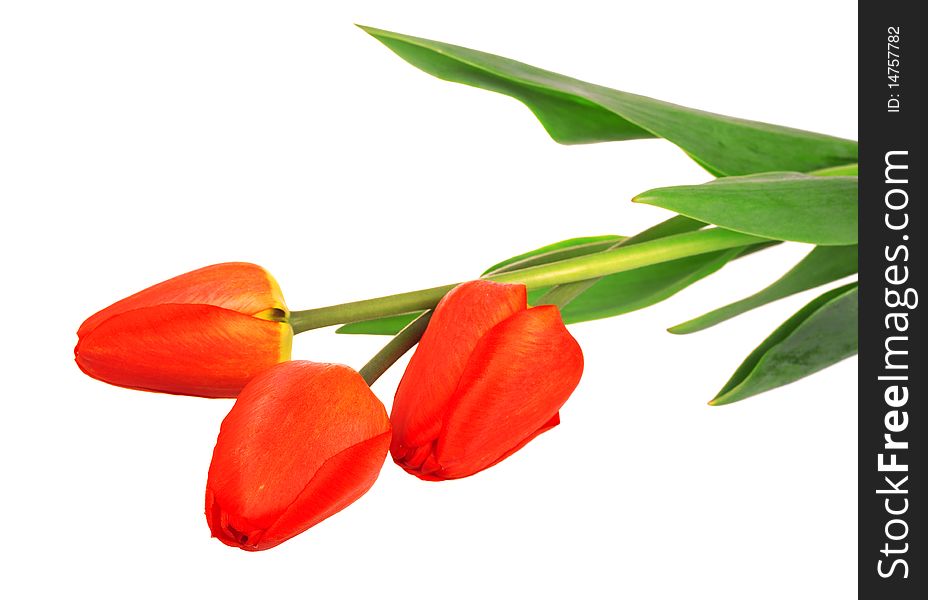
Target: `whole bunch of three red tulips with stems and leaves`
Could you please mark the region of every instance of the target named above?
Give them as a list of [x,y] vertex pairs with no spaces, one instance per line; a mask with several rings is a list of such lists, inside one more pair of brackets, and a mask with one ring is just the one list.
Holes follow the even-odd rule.
[[[389,452],[428,481],[468,477],[558,425],[583,354],[566,324],[660,302],[782,242],[806,257],[756,294],[670,328],[691,333],[857,271],[857,144],[676,106],[421,38],[366,29],[442,79],[525,103],[561,143],[664,138],[717,177],[635,198],[675,216],[633,236],[575,238],[476,280],[291,311],[248,263],[208,266],[88,318],[75,359],[126,388],[236,398],[222,423],[205,512],[225,544],[263,550],[340,511]],[[360,371],[291,360],[294,334],[389,335]],[[416,347],[387,412],[370,386]],[[857,351],[857,283],[776,328],[710,402],[736,402]]]

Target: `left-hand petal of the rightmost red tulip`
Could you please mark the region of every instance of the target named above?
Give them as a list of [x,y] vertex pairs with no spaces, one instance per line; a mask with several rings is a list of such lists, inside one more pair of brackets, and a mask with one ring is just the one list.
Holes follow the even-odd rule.
[[394,458],[438,436],[446,401],[480,338],[525,307],[525,286],[482,280],[457,286],[438,303],[396,390],[390,415]]

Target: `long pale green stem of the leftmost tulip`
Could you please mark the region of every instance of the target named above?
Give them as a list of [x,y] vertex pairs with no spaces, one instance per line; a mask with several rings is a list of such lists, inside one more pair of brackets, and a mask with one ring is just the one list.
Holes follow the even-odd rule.
[[[689,231],[642,241],[634,245],[621,244],[616,248],[595,254],[575,256],[506,273],[490,274],[484,279],[500,283],[522,283],[528,289],[537,289],[566,283],[586,282],[613,273],[640,269],[688,256],[769,241],[767,238],[721,228]],[[294,333],[302,333],[319,327],[427,310],[434,308],[438,301],[456,285],[443,285],[393,296],[294,311],[290,313],[289,322]]]

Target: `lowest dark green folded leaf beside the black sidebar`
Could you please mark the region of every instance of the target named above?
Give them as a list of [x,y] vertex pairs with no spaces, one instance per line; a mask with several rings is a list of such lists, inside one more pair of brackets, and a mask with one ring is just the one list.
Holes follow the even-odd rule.
[[825,292],[780,325],[709,402],[730,404],[857,354],[857,283]]

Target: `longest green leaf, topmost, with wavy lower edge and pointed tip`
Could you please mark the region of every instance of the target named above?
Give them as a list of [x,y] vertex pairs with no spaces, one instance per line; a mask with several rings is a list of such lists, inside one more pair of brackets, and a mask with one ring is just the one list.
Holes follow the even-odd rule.
[[686,108],[461,46],[361,28],[426,73],[521,101],[563,144],[664,138],[717,176],[857,161],[851,140]]

